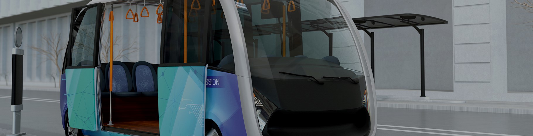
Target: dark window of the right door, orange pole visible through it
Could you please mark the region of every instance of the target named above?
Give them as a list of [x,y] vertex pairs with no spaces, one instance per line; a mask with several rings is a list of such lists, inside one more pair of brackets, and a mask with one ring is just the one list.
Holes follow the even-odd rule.
[[[200,6],[192,1],[187,5]],[[205,62],[206,8],[188,7],[187,12],[183,8],[183,1],[168,1],[168,9],[172,10],[167,10],[163,24],[166,29],[161,35],[161,64]]]

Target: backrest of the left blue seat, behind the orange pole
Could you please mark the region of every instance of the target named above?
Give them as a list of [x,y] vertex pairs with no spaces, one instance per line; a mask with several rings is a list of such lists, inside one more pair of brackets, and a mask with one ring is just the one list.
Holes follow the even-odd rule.
[[[109,64],[106,66],[106,86],[109,89]],[[113,61],[113,92],[130,92],[133,88],[128,67],[120,61]]]

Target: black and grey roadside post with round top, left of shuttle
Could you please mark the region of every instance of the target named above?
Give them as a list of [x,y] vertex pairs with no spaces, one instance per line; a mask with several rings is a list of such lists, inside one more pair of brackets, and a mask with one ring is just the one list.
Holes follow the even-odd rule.
[[20,111],[22,111],[22,64],[24,50],[19,49],[22,44],[22,30],[15,29],[15,46],[12,49],[13,69],[11,78],[11,111],[13,112],[13,134],[7,136],[26,135],[26,132],[20,132]]

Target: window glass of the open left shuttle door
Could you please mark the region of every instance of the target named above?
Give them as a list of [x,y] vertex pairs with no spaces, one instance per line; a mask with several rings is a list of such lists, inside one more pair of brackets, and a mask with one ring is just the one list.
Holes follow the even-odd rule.
[[98,7],[80,8],[72,24],[71,64],[70,66],[93,66],[95,54],[95,30]]

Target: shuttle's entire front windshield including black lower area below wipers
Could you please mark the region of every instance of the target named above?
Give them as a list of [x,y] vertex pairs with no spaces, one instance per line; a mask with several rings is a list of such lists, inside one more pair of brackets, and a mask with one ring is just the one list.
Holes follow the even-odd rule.
[[365,79],[351,22],[334,1],[245,0],[236,6],[254,90],[289,111],[361,107],[357,90],[365,89],[359,84]]

